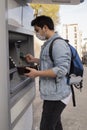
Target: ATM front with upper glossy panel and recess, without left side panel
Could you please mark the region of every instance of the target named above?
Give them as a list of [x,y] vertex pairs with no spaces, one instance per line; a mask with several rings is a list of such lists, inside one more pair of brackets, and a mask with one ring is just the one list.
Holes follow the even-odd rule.
[[31,130],[33,125],[32,102],[35,98],[35,80],[22,74],[23,67],[35,66],[28,64],[24,58],[27,53],[34,55],[33,29],[29,25],[29,20],[32,19],[33,10],[26,3],[8,0],[11,130]]

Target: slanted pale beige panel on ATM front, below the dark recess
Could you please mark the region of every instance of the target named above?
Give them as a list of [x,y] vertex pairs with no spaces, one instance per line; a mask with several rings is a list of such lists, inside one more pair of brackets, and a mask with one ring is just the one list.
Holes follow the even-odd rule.
[[[26,112],[27,108],[31,105],[31,103],[35,97],[35,89],[34,89],[34,87],[32,87],[32,84],[31,84],[30,88],[25,88],[24,91],[26,94],[24,94],[20,98],[20,100],[18,102],[16,102],[16,104],[14,106],[12,106],[13,104],[11,103],[11,107],[12,107],[11,108],[11,126],[12,126],[12,128],[15,127],[15,125],[20,120],[20,118],[23,116],[23,114]],[[20,95],[20,93],[19,93],[19,95]],[[19,95],[18,95],[18,97],[19,97]],[[15,100],[15,98],[16,97],[14,97],[14,100]]]

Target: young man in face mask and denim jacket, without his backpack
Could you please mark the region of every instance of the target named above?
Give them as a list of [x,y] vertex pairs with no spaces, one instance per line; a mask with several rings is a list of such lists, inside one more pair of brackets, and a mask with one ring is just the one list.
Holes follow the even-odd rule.
[[26,55],[28,62],[39,63],[39,70],[28,68],[30,73],[25,74],[31,78],[40,77],[40,96],[43,99],[43,112],[40,130],[63,130],[61,113],[70,98],[70,86],[67,84],[66,74],[70,69],[71,52],[64,40],[54,41],[52,56],[49,56],[49,47],[52,41],[59,37],[54,31],[54,23],[48,16],[35,18],[31,25],[34,26],[36,36],[45,40],[40,53],[40,59],[31,54]]

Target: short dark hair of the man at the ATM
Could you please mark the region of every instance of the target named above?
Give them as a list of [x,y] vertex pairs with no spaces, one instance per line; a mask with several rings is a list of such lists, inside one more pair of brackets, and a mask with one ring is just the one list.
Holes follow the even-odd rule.
[[31,21],[31,26],[35,26],[35,25],[41,28],[43,28],[44,25],[47,25],[47,27],[50,30],[54,30],[53,20],[49,16],[41,15],[36,17],[34,20]]

